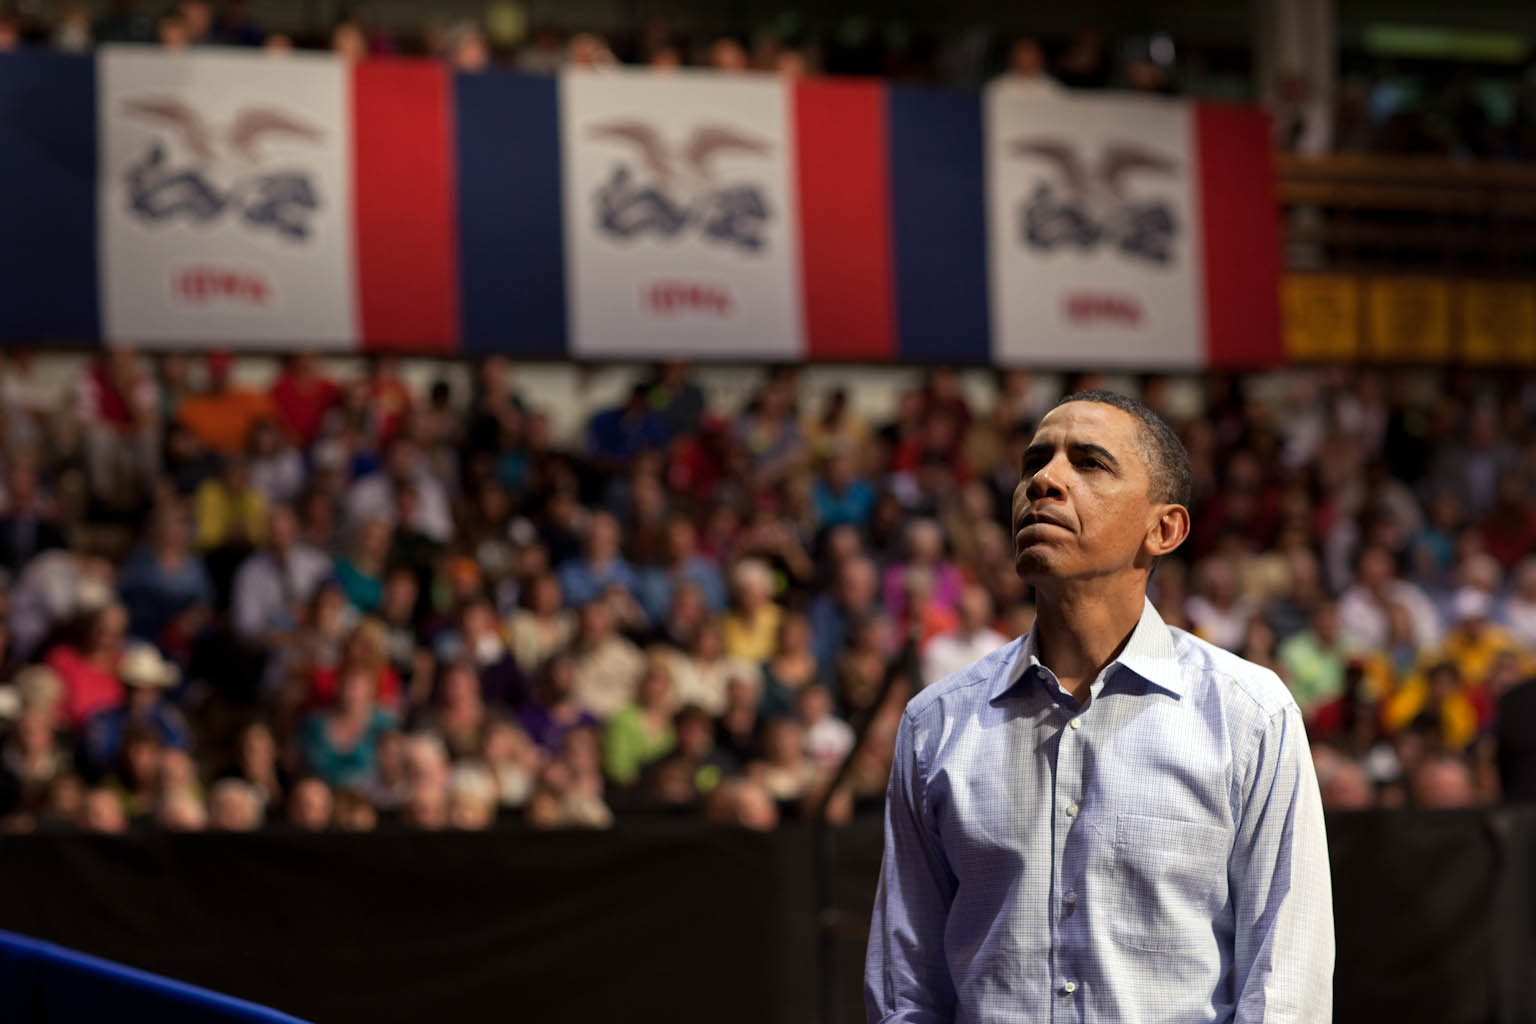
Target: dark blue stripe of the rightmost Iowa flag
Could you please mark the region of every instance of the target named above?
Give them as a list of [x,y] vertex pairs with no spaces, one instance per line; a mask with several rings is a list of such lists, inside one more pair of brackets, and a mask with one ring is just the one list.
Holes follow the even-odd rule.
[[897,352],[986,362],[982,98],[903,86],[889,97]]

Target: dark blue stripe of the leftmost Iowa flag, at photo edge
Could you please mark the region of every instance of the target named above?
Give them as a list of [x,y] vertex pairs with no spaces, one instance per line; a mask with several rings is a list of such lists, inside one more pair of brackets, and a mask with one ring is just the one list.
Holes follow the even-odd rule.
[[0,60],[0,341],[95,341],[95,58]]

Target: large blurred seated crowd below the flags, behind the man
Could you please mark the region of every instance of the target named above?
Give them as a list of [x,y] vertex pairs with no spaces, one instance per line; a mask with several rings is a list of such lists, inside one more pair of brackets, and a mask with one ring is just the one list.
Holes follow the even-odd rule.
[[[869,418],[668,364],[558,436],[504,358],[472,370],[250,387],[117,350],[52,402],[12,356],[5,827],[879,808],[905,702],[1029,628],[1020,457],[1103,384],[935,368]],[[1152,599],[1281,674],[1327,806],[1536,800],[1536,376],[1132,384],[1197,484]]]

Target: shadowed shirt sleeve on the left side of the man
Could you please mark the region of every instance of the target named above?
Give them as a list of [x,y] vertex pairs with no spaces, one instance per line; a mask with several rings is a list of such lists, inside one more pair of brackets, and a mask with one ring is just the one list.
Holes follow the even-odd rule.
[[945,923],[955,878],[929,824],[911,715],[902,717],[885,800],[885,858],[869,924],[865,1009],[869,1024],[954,1019]]

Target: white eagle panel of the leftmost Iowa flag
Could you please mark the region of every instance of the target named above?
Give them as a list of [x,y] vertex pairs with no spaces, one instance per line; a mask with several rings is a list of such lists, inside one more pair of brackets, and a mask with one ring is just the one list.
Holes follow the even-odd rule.
[[106,341],[355,345],[347,66],[134,46],[98,61]]

